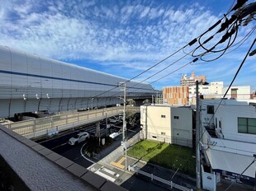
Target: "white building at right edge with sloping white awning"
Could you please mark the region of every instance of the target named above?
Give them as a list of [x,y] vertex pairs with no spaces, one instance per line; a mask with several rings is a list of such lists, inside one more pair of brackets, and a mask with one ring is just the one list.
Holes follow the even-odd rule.
[[255,100],[201,100],[201,151],[218,181],[255,182],[255,105]]

